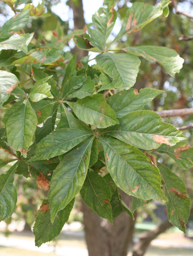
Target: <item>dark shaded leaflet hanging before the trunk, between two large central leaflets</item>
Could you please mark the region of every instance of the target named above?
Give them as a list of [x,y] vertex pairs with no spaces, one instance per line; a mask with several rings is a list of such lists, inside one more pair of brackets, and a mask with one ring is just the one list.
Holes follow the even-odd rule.
[[82,186],[81,196],[96,214],[112,223],[111,191],[103,177],[90,170]]

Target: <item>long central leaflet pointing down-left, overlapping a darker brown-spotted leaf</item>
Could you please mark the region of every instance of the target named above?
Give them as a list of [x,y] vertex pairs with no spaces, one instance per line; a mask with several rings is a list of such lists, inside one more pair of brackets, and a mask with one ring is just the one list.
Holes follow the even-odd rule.
[[66,154],[54,170],[49,191],[51,221],[81,190],[87,175],[93,139]]

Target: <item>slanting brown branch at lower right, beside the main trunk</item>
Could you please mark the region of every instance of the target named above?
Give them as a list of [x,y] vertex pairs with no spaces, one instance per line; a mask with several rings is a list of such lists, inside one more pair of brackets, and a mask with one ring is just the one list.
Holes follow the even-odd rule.
[[160,223],[154,230],[143,232],[140,241],[135,244],[133,247],[132,256],[143,256],[146,253],[149,244],[155,239],[159,234],[168,230],[168,228],[172,227],[171,223],[166,220]]

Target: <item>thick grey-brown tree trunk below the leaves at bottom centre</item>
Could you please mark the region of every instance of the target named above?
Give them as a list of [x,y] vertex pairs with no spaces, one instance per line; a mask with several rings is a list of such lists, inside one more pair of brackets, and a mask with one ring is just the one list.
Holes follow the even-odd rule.
[[[131,207],[131,196],[121,191],[122,199]],[[114,220],[114,225],[92,213],[82,204],[85,239],[89,256],[126,256],[132,242],[135,221],[125,212]]]

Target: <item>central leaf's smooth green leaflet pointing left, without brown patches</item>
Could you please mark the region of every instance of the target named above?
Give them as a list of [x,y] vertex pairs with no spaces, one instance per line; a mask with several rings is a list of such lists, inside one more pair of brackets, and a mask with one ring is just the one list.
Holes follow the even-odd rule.
[[67,129],[53,131],[43,138],[36,146],[35,155],[31,161],[49,159],[68,152],[71,148],[81,143],[85,138],[93,135],[93,132],[79,129]]

